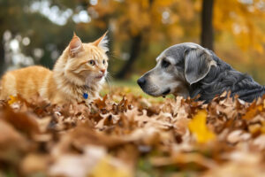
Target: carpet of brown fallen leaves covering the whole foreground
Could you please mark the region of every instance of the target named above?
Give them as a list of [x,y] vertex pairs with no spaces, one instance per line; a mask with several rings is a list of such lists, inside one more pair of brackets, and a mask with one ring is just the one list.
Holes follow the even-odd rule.
[[265,176],[265,99],[0,102],[0,176]]

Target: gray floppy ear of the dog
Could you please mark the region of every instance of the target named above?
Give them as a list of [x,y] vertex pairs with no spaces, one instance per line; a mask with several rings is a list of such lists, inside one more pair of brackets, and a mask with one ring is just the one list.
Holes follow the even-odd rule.
[[209,72],[211,65],[216,65],[212,55],[204,49],[189,49],[185,52],[185,77],[189,84],[201,81]]

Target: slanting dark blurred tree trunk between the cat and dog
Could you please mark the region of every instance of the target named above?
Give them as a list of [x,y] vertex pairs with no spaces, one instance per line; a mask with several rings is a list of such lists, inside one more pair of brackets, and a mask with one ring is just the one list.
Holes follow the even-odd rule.
[[116,77],[118,79],[124,79],[127,73],[130,73],[133,67],[134,61],[138,58],[140,54],[140,43],[142,41],[142,35],[136,35],[133,37],[132,45],[130,49],[130,58],[125,62],[125,65],[117,73]]

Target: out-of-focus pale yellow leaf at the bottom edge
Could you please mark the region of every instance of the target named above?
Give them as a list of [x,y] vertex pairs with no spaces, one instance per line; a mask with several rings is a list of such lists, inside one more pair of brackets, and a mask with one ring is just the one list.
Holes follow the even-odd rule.
[[103,158],[95,166],[89,177],[133,177],[133,174],[125,168],[125,165],[111,163],[111,158]]

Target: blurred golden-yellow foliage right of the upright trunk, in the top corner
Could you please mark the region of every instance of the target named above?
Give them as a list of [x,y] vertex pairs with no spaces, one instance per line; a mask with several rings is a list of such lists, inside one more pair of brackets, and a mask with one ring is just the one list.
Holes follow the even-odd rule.
[[242,50],[253,49],[263,52],[265,42],[264,0],[239,1],[216,0],[214,7],[214,27],[216,31],[230,31]]

